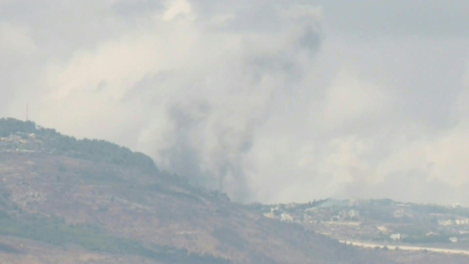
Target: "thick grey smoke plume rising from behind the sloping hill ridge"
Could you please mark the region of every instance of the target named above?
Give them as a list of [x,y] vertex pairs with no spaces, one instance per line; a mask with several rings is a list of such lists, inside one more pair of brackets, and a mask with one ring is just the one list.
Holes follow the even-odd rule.
[[[296,86],[320,46],[319,9],[265,5],[257,11],[264,7],[271,9],[275,30],[255,30],[255,22],[254,29],[235,28],[242,13],[234,13],[232,19],[240,21],[214,28],[201,44],[212,45],[216,56],[206,54],[195,65],[168,73],[170,83],[156,75],[136,87],[149,94],[168,91],[153,99],[158,116],[142,134],[146,152],[163,168],[235,200],[255,198],[246,177],[257,132],[282,112],[284,100],[294,100],[295,89],[304,88]],[[226,41],[222,29],[234,30],[234,36]]]

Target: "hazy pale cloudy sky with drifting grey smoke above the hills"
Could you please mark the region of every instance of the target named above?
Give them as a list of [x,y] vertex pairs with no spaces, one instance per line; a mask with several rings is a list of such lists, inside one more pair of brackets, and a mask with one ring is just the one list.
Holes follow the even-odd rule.
[[[39,3],[41,2],[41,3]],[[469,206],[469,1],[0,0],[0,115],[237,201]]]

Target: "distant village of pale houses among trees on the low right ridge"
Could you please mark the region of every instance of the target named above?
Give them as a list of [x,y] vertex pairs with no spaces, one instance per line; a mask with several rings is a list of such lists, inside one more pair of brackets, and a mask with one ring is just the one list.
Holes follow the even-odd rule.
[[458,204],[326,199],[308,204],[264,206],[258,210],[266,218],[297,223],[338,240],[469,247],[469,209]]

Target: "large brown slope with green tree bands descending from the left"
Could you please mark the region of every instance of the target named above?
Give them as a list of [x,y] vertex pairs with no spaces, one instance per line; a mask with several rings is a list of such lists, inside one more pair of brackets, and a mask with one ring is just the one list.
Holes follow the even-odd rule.
[[[365,250],[159,171],[144,154],[0,119],[3,263],[462,263]],[[269,209],[270,210],[270,209]]]

